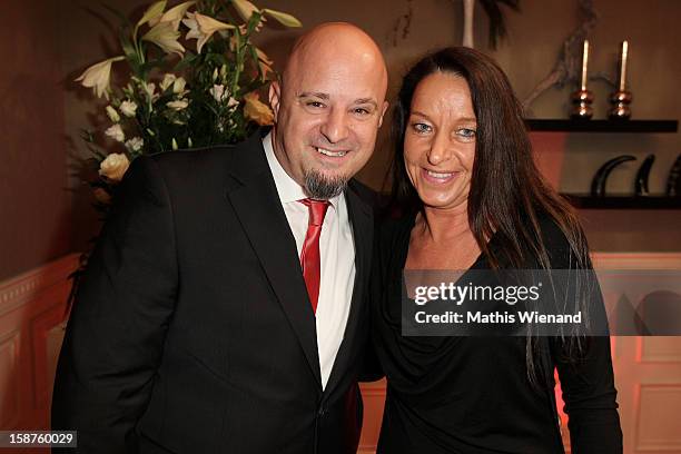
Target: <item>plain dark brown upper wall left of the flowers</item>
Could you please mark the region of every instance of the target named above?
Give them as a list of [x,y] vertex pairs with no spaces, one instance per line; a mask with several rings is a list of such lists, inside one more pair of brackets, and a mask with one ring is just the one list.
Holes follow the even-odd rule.
[[2,2],[0,280],[71,251],[58,2]]

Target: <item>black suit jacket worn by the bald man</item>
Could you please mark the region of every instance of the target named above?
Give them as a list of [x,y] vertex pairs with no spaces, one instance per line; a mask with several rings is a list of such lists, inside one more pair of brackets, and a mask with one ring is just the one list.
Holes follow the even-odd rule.
[[259,135],[138,158],[120,190],[68,324],[53,430],[77,430],[83,453],[355,453],[365,189],[346,191],[356,277],[324,392],[315,316]]

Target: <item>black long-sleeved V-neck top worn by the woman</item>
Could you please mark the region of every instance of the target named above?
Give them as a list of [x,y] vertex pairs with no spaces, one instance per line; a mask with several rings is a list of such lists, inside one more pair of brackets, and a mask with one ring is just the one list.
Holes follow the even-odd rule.
[[[525,337],[402,336],[402,273],[415,216],[384,223],[376,238],[373,338],[387,377],[377,453],[563,453],[552,374],[526,373]],[[568,268],[566,238],[540,224],[552,268]],[[495,247],[492,238],[491,248]],[[484,257],[472,266],[488,269]],[[602,299],[595,299],[602,305]],[[557,368],[572,452],[622,453],[609,337],[591,337],[579,362],[543,337]]]

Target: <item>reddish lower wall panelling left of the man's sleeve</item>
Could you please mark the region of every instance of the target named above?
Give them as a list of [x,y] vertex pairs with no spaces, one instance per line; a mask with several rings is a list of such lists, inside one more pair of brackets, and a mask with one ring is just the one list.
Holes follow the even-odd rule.
[[[47,430],[59,334],[77,255],[0,283],[0,430]],[[38,451],[36,451],[38,452]]]

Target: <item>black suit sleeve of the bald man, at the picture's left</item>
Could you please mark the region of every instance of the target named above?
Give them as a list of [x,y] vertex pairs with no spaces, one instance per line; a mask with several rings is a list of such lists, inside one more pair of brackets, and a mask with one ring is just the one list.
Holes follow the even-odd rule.
[[[171,207],[157,164],[137,158],[119,186],[79,286],[61,349],[52,428],[72,453],[135,453],[177,290]],[[55,450],[55,452],[58,452]]]

